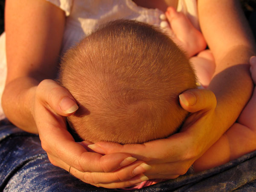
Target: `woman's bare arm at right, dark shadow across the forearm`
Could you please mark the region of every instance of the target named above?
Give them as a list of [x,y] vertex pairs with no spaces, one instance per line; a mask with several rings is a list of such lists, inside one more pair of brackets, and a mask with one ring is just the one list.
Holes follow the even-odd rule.
[[219,137],[235,122],[252,94],[248,64],[256,53],[255,44],[238,0],[198,0],[198,14],[216,63],[208,89],[217,99]]

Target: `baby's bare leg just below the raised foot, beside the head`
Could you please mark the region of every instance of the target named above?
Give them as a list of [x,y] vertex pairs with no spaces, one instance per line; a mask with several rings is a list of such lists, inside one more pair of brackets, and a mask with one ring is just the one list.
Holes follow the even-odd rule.
[[209,49],[200,52],[197,56],[191,57],[190,62],[195,69],[198,81],[206,88],[215,72],[214,57]]

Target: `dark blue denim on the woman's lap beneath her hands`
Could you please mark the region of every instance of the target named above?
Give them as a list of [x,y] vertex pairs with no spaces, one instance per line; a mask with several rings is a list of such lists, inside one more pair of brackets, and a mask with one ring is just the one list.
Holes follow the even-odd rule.
[[[140,192],[256,191],[256,151],[225,165],[186,174],[139,189]],[[0,191],[6,192],[108,192],[83,183],[53,166],[41,148],[38,135],[0,122]]]

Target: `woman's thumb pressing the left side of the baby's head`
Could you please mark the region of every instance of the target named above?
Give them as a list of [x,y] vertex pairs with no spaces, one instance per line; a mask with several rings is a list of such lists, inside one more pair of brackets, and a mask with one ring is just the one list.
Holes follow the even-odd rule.
[[70,116],[78,109],[76,100],[70,92],[56,81],[46,79],[39,83],[36,96],[61,116]]

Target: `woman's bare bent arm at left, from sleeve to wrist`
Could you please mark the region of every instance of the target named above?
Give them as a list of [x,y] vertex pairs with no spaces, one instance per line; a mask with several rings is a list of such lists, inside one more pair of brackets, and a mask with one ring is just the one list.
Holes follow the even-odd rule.
[[7,0],[8,74],[3,109],[21,129],[38,133],[33,117],[36,86],[54,78],[64,32],[64,11],[44,0]]

